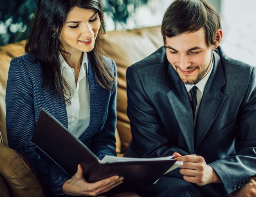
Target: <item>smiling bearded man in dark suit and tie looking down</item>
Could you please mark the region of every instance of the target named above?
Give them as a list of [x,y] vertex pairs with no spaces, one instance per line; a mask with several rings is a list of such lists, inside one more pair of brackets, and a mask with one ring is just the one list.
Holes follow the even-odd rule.
[[256,196],[256,69],[225,55],[220,16],[204,0],[173,2],[161,31],[164,46],[126,73],[126,156],[184,164],[141,195]]

